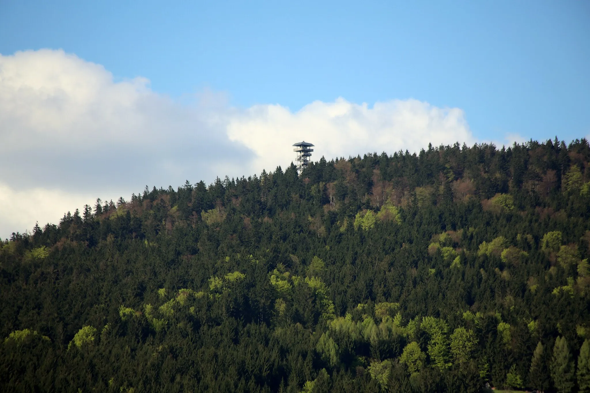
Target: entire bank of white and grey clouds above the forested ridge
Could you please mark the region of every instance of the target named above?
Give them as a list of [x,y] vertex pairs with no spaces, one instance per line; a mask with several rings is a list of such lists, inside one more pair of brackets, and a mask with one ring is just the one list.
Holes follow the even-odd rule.
[[300,140],[316,145],[314,160],[475,142],[460,108],[418,100],[337,98],[293,112],[231,107],[211,91],[189,98],[158,94],[141,77],[115,81],[61,50],[0,55],[0,237],[146,184],[284,168]]

